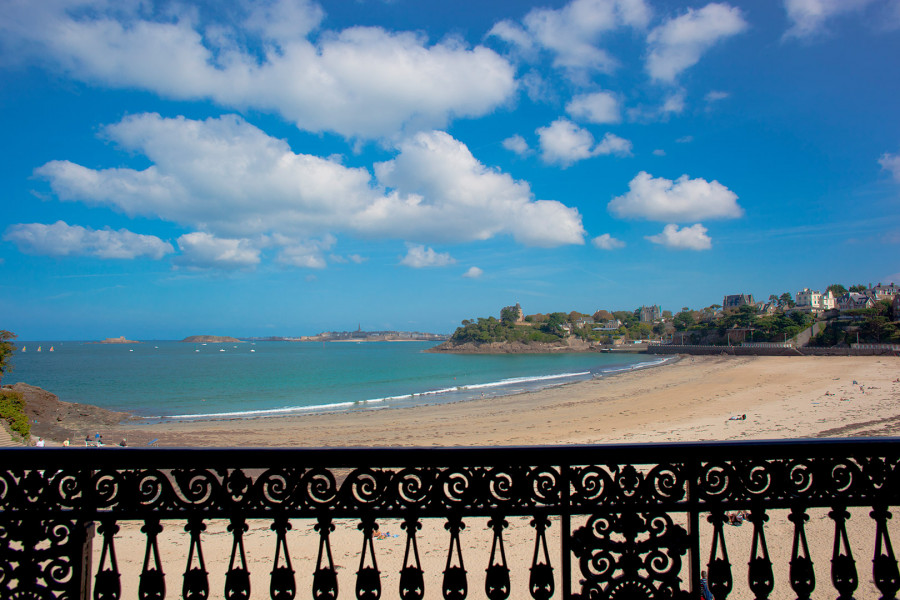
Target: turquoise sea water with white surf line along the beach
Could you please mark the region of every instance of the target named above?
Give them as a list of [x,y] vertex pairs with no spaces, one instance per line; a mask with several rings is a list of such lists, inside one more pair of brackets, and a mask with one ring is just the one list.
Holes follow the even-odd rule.
[[22,381],[66,402],[149,419],[250,418],[454,402],[661,362],[639,354],[423,352],[431,342],[16,345],[13,371],[4,384]]

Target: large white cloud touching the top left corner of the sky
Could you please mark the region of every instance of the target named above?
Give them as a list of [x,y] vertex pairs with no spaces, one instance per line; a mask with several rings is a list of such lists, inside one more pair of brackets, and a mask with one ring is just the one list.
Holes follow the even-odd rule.
[[[219,8],[217,6],[217,8]],[[482,116],[516,90],[513,66],[458,39],[352,27],[313,37],[315,3],[202,6],[4,2],[3,54],[34,55],[112,88],[280,114],[309,131],[381,138]]]

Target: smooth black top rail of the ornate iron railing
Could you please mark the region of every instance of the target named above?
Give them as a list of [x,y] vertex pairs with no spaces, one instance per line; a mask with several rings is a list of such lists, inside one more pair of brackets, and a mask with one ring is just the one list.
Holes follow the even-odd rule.
[[742,440],[689,443],[391,448],[4,448],[5,468],[259,468],[479,465],[585,465],[900,453],[900,437]]

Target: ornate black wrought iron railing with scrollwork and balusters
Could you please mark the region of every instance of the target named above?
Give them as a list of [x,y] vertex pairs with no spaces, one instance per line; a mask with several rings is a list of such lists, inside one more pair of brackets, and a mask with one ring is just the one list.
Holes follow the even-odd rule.
[[[262,572],[267,585],[253,589],[252,597],[274,600],[334,599],[339,590],[359,599],[676,599],[699,598],[705,570],[718,600],[810,598],[817,586],[833,588],[828,597],[895,598],[900,573],[890,519],[898,498],[895,438],[454,449],[7,449],[0,450],[0,596],[238,600],[251,597],[255,571],[255,580]],[[813,513],[815,524],[809,522]],[[854,540],[872,553],[870,566],[854,557],[851,513],[871,532]],[[490,558],[467,570],[469,546],[461,532],[478,519],[487,525],[466,532],[467,543],[481,536]],[[530,524],[517,529],[528,532],[528,564],[507,560],[504,534],[513,519]],[[244,547],[248,523],[256,520],[271,529],[274,551],[263,564],[251,564]],[[331,536],[339,520],[358,528],[353,564],[334,559]],[[393,589],[384,587],[374,543],[379,524],[388,520],[401,523],[403,536]],[[421,527],[435,520],[444,524],[440,572],[426,573]],[[742,521],[742,530],[729,527]],[[224,584],[216,589],[203,554],[212,523],[227,524],[231,549]],[[307,546],[299,552],[288,531],[304,523],[314,527],[299,538]],[[131,579],[117,561],[120,527],[129,524],[140,529],[143,557]],[[827,528],[830,564],[813,562],[822,550],[813,548],[811,555],[807,529],[814,526],[819,537]],[[178,550],[186,566],[183,573],[165,573],[160,534],[182,527]],[[790,540],[789,552],[770,555],[773,528],[788,531],[779,539]],[[747,566],[732,564],[729,549],[748,556]],[[429,580],[438,583],[429,588]],[[300,589],[302,581],[311,590]],[[776,583],[782,587],[776,590]]]

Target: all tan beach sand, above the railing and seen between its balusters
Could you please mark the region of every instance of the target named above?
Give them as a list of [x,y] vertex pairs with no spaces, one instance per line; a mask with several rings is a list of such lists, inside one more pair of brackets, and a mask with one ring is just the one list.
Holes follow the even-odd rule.
[[[254,420],[129,425],[104,433],[108,439],[158,437],[167,446],[495,446],[590,444],[799,437],[886,436],[900,432],[900,358],[894,357],[683,357],[663,367],[622,373],[536,393],[457,404],[382,411],[306,415]],[[740,420],[731,417],[743,416]],[[112,451],[112,450],[111,450]],[[814,598],[830,598],[829,568],[834,524],[826,509],[810,511],[807,529],[817,568]],[[793,597],[788,579],[792,525],[784,511],[771,511],[766,525],[775,563],[773,598]],[[900,519],[890,522],[900,541]],[[168,573],[168,596],[180,593],[187,537],[183,523],[167,524],[160,545]],[[255,566],[254,597],[267,597],[274,555],[268,522],[250,523],[245,536],[248,560]],[[318,538],[312,522],[297,522],[288,544],[297,571],[298,594],[309,594]],[[399,523],[383,522],[392,537],[376,540],[383,597],[396,597],[405,537]],[[221,597],[231,553],[226,523],[214,521],[204,534],[211,597]],[[117,550],[123,585],[134,594],[145,539],[136,524],[123,524]],[[551,559],[558,522],[549,530]],[[746,588],[752,527],[726,526],[735,589],[729,598],[750,598]],[[711,526],[702,521],[701,554],[705,564]],[[877,598],[871,576],[874,525],[868,509],[853,511],[848,523],[859,571],[856,598]],[[395,536],[396,537],[393,537]],[[462,536],[470,597],[482,597],[491,532],[484,519],[467,520]],[[426,571],[426,598],[440,598],[441,572],[447,558],[448,533],[442,522],[425,523],[420,553]],[[528,567],[534,531],[528,519],[510,519],[507,557],[513,577],[512,598],[527,596]],[[333,536],[341,597],[352,597],[362,534],[355,522],[338,522]],[[95,540],[95,569],[99,539]],[[574,580],[577,581],[577,575]],[[124,597],[124,596],[123,596]]]

